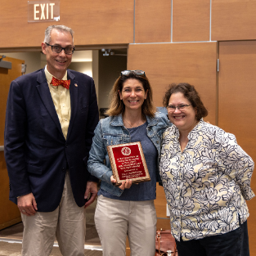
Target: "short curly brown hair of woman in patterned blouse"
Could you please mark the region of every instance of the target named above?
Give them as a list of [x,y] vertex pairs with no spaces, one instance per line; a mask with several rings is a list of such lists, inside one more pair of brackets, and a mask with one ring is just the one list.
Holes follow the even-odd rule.
[[177,92],[182,92],[184,97],[191,102],[191,106],[196,110],[195,119],[197,121],[208,115],[208,110],[206,110],[203,102],[201,101],[199,93],[195,90],[194,85],[189,83],[172,83],[164,94],[163,104],[165,107],[168,106],[168,101],[172,94]]

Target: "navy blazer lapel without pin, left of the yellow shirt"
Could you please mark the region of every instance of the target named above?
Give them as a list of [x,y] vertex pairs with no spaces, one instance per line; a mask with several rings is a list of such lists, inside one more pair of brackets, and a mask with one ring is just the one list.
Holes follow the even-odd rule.
[[61,130],[61,123],[60,123],[60,120],[59,120],[58,115],[56,113],[55,106],[54,106],[53,101],[52,101],[52,95],[51,95],[51,92],[50,92],[49,87],[48,87],[48,83],[47,83],[47,79],[46,79],[44,70],[42,70],[38,74],[38,80],[37,81],[38,81],[37,89],[38,89],[40,97],[43,101],[43,104],[47,108],[47,111],[49,112],[49,115],[51,115],[54,123],[56,124],[56,127],[59,129],[59,131],[63,135],[63,132]]

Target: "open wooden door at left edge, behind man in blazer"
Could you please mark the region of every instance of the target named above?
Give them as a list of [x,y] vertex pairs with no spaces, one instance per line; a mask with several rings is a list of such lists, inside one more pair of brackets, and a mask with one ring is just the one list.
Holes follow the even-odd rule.
[[9,177],[3,155],[3,132],[10,83],[21,75],[21,65],[25,63],[10,57],[4,58],[3,61],[11,61],[12,66],[11,70],[0,68],[0,230],[21,221],[19,209],[9,200]]

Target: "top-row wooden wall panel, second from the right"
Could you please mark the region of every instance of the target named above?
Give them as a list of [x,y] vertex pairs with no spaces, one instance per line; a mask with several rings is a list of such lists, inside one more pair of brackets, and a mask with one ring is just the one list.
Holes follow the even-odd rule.
[[209,41],[210,1],[173,0],[173,42]]

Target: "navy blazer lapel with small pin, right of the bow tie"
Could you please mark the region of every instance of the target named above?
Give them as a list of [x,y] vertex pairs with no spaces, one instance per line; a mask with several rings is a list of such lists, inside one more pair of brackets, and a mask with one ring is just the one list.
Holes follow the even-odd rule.
[[68,129],[67,140],[70,137],[70,132],[74,125],[74,119],[78,113],[79,106],[79,83],[75,80],[74,74],[68,70],[68,79],[70,79],[70,105],[71,105],[71,116],[70,116],[70,125]]

